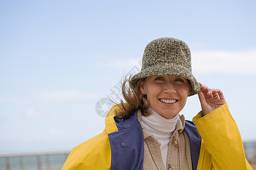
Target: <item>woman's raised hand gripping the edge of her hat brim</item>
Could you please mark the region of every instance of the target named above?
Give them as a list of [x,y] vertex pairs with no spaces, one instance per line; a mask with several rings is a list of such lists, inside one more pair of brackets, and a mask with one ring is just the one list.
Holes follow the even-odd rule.
[[198,91],[199,100],[204,116],[226,103],[220,89],[209,88],[199,83],[202,91]]

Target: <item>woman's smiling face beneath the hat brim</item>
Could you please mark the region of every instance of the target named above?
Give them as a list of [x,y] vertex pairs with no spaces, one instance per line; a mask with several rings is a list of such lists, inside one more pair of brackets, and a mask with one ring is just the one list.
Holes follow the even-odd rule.
[[165,118],[173,118],[184,108],[190,88],[189,80],[179,76],[151,76],[141,82],[148,104]]

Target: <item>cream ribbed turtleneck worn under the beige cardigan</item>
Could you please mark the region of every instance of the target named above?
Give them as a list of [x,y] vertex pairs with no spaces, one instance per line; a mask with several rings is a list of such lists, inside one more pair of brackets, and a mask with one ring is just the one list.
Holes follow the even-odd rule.
[[141,125],[144,126],[161,143],[160,150],[164,167],[167,167],[168,143],[180,119],[179,114],[174,118],[167,119],[151,109],[150,116],[141,117]]

